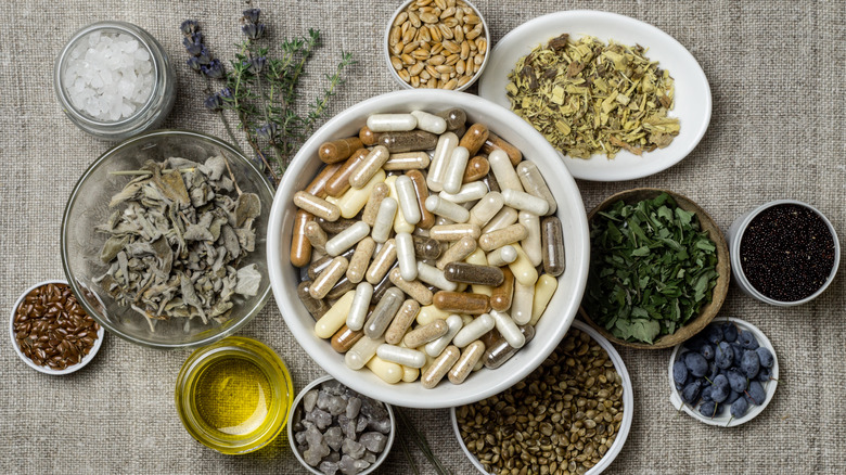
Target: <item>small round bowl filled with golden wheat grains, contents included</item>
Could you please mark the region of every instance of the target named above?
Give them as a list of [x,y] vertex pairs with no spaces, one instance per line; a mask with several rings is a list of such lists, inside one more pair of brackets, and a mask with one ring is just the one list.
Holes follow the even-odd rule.
[[466,0],[408,0],[385,29],[385,60],[406,89],[463,91],[488,64],[489,38],[485,18]]

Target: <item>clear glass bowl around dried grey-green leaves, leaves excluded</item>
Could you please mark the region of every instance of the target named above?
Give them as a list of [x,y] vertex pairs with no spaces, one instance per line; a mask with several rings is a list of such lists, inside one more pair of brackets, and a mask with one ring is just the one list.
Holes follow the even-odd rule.
[[[130,177],[110,175],[116,170],[140,168],[144,162],[162,162],[179,156],[195,162],[222,155],[229,162],[243,192],[256,193],[261,202],[261,215],[255,221],[256,248],[241,265],[255,264],[261,273],[257,295],[235,298],[231,317],[223,324],[214,320],[204,324],[198,319],[159,320],[155,332],[145,319],[121,307],[100,285],[92,282],[107,267],[100,260],[100,251],[106,235],[94,232],[97,224],[106,222],[114,209],[108,207],[112,196],[124,189]],[[273,191],[265,176],[240,152],[222,140],[184,130],[157,130],[129,139],[101,155],[82,174],[74,187],[62,218],[62,266],[67,281],[86,311],[107,331],[131,343],[154,348],[185,348],[203,346],[231,335],[258,313],[270,296],[266,235]]]

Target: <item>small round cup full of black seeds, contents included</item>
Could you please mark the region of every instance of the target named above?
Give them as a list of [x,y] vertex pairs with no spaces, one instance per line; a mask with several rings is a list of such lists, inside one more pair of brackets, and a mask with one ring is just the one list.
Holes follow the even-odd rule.
[[735,219],[728,241],[734,281],[770,305],[817,298],[834,280],[841,260],[831,221],[795,200],[772,201]]

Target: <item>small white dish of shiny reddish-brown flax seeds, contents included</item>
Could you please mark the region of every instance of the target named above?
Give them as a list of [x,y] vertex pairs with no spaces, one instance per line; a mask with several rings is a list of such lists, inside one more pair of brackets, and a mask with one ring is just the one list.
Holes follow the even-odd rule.
[[9,321],[12,347],[33,369],[73,373],[94,358],[104,331],[77,301],[67,281],[39,282],[24,291]]

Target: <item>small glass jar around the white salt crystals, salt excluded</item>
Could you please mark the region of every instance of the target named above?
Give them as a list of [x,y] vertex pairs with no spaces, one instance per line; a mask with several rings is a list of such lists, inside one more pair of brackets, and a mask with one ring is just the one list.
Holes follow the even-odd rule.
[[[76,108],[70,101],[68,85],[64,82],[65,72],[73,61],[70,52],[77,44],[87,41],[93,33],[129,35],[139,41],[140,48],[150,53],[154,74],[153,90],[146,102],[129,117],[118,120],[95,119]],[[59,104],[74,125],[100,139],[124,140],[162,125],[176,100],[176,69],[162,44],[144,29],[131,23],[100,22],[76,31],[59,53],[53,69],[53,87]]]

